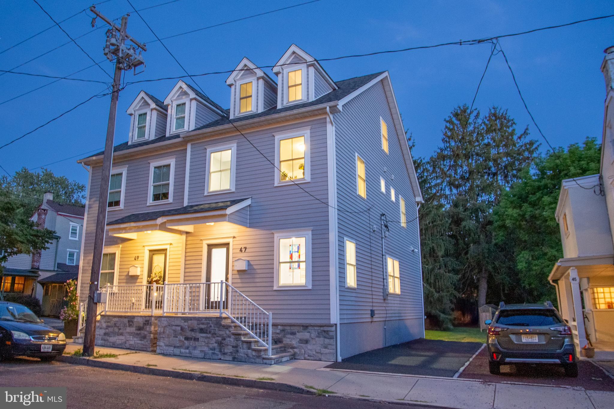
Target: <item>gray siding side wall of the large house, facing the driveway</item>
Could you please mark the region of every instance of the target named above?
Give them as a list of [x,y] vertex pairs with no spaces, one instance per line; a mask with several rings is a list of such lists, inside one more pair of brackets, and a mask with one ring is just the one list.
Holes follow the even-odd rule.
[[[381,148],[380,117],[387,124],[389,155]],[[418,220],[406,228],[398,223],[399,195],[405,199],[408,221],[416,217],[417,207],[381,82],[346,103],[343,112],[333,118],[337,207],[359,211],[373,206],[370,217],[368,213],[338,211],[341,354],[347,357],[422,336],[420,256],[410,251],[410,247],[419,249],[419,229]],[[365,161],[366,200],[357,194],[357,154]],[[386,180],[386,194],[380,191],[380,177]],[[395,189],[395,202],[391,201],[391,187]],[[387,280],[387,271],[381,254],[381,213],[386,214],[390,227],[386,255],[397,259],[400,267],[400,294],[389,294],[385,301],[383,280]],[[373,225],[375,233],[369,227]],[[356,289],[346,288],[345,238],[356,242]],[[375,309],[373,319],[371,308]]]

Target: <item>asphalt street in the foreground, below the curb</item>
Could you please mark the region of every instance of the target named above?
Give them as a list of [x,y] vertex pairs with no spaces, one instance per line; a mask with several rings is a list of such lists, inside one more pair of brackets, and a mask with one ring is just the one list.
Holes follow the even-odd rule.
[[0,386],[66,386],[68,408],[426,408],[225,386],[27,358],[0,363]]

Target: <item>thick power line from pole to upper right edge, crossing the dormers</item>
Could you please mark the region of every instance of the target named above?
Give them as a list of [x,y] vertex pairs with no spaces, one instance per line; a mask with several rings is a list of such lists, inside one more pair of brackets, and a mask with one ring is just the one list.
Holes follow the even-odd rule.
[[[343,55],[343,56],[331,57],[331,58],[314,58],[311,61],[306,61],[306,63],[321,63],[322,61],[337,61],[337,60],[346,59],[346,58],[360,58],[360,57],[374,56],[374,55],[381,55],[381,54],[402,53],[402,52],[408,52],[408,51],[413,51],[413,50],[425,50],[427,48],[445,47],[445,46],[448,46],[448,45],[476,45],[476,44],[482,44],[482,43],[485,43],[485,42],[492,42],[492,41],[497,40],[497,39],[502,38],[502,37],[521,36],[523,34],[529,34],[529,33],[532,33],[532,32],[542,31],[542,30],[546,30],[546,29],[561,28],[561,27],[571,26],[571,25],[575,25],[575,24],[579,24],[579,23],[585,23],[586,21],[602,20],[604,18],[611,18],[611,17],[614,17],[614,14],[600,16],[600,17],[586,18],[585,20],[572,21],[571,23],[564,23],[564,24],[556,25],[556,26],[548,26],[548,27],[542,27],[542,28],[535,28],[535,29],[530,29],[530,30],[527,30],[527,31],[516,32],[516,33],[513,33],[513,34],[501,34],[499,36],[486,37],[486,38],[483,38],[483,39],[457,40],[457,41],[443,42],[443,43],[440,43],[440,44],[419,45],[419,46],[416,46],[416,47],[399,48],[399,49],[395,49],[395,50],[383,50],[383,51],[376,51],[376,52],[371,52],[371,53]],[[280,65],[291,65],[291,64],[292,63],[280,64]],[[258,66],[258,67],[255,67],[255,68],[263,69],[263,68],[273,68],[273,67],[274,66]],[[132,84],[142,83],[142,82],[155,82],[155,81],[161,81],[161,80],[176,80],[176,79],[185,78],[185,77],[190,77],[191,78],[191,77],[202,77],[204,75],[230,74],[231,72],[235,72],[235,71],[247,71],[247,69],[238,69],[238,70],[233,69],[233,70],[226,70],[226,71],[204,72],[203,74],[192,74],[192,75],[180,75],[180,76],[176,76],[176,77],[154,78],[154,79],[150,79],[150,80],[139,80],[139,81],[128,82],[128,83],[126,83],[126,85],[132,85]]]

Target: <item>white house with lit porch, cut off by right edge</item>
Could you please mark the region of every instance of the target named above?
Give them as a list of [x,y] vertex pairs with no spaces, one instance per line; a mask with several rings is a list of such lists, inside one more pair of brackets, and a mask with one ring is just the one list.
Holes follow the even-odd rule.
[[556,220],[563,258],[548,277],[556,286],[559,310],[572,327],[577,348],[590,342],[597,357],[614,351],[614,47],[605,53],[600,173],[562,181]]

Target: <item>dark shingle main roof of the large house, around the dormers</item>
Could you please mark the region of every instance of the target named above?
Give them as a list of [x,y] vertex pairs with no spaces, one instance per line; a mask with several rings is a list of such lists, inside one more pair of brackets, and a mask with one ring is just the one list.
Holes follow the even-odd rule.
[[[193,129],[193,131],[198,131],[200,129],[215,128],[216,126],[227,125],[229,122],[231,122],[231,123],[238,123],[238,122],[241,122],[241,121],[247,121],[247,120],[251,120],[251,119],[254,119],[254,118],[268,117],[269,115],[275,115],[276,113],[290,112],[290,111],[301,109],[301,108],[312,107],[314,105],[326,104],[327,102],[339,101],[340,99],[343,99],[343,97],[348,96],[352,92],[354,92],[357,89],[359,89],[361,86],[363,86],[366,83],[368,83],[371,80],[373,80],[373,78],[376,78],[376,77],[378,77],[378,75],[383,74],[383,72],[384,71],[382,71],[382,72],[375,72],[374,74],[362,75],[361,77],[354,77],[354,78],[348,78],[347,80],[337,81],[335,83],[336,83],[336,85],[339,88],[337,88],[336,90],[330,91],[330,93],[324,94],[321,97],[316,98],[316,99],[314,99],[313,101],[310,101],[310,102],[305,102],[303,104],[290,105],[289,107],[283,107],[283,108],[279,108],[279,109],[276,106],[273,106],[270,109],[267,109],[267,110],[265,110],[263,112],[254,113],[252,115],[246,115],[244,117],[233,118],[232,120],[228,119],[228,116],[227,116],[225,118],[219,118],[217,120],[211,121],[208,124],[204,124],[203,126],[200,126],[199,128]],[[193,86],[190,86],[189,84],[188,84],[188,86],[199,97],[203,98],[205,101],[211,102],[212,105],[222,109],[220,107],[220,105],[217,105],[215,102],[211,101],[211,99],[209,99],[208,97],[204,96],[198,90],[195,90],[193,88]],[[147,95],[149,95],[149,94],[147,94]],[[222,110],[224,112],[226,112],[227,115],[228,115],[228,110],[227,109],[222,109]],[[144,147],[144,146],[147,146],[147,145],[153,145],[155,143],[166,142],[167,140],[173,140],[173,139],[179,139],[179,138],[180,138],[179,134],[175,134],[175,135],[171,135],[171,136],[163,136],[163,137],[159,137],[159,138],[156,138],[156,139],[147,140],[145,142],[132,143],[130,145],[128,145],[128,142],[123,142],[123,143],[120,143],[119,145],[115,145],[115,147],[113,147],[113,151],[114,151],[114,153],[115,152],[121,152],[121,151],[125,151],[125,150],[130,150],[130,149],[134,149],[134,148]],[[98,152],[98,153],[95,153],[94,155],[88,156],[88,158],[91,158],[93,156],[103,155],[103,153],[104,152]]]

